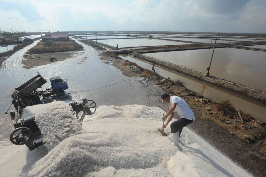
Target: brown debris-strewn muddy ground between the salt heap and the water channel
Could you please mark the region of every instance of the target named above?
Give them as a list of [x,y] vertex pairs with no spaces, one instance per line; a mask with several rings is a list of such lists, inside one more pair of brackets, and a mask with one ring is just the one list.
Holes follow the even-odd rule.
[[[135,64],[121,59],[114,53],[104,52],[100,54],[100,57],[105,63],[113,61],[112,65],[127,76],[149,77],[150,71],[143,70],[137,65],[134,66]],[[158,77],[164,91],[182,97],[193,110],[196,120],[188,128],[255,176],[266,176],[266,124],[264,122],[255,120],[251,115],[240,111],[248,128],[246,130],[235,109],[221,112],[217,109],[218,103],[183,86],[173,85],[169,79]],[[154,73],[150,79],[153,82],[149,83],[159,84]],[[162,79],[166,79],[167,82],[162,82]],[[151,97],[155,98],[153,101],[157,103],[158,107],[167,112],[169,105],[162,103],[158,96],[160,90],[150,92],[152,92],[150,93]],[[207,110],[206,107],[210,110]],[[177,118],[176,115],[175,118]]]

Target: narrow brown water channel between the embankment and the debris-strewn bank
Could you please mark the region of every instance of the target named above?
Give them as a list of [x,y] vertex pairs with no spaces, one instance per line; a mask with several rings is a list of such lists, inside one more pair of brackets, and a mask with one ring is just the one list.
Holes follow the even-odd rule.
[[[129,57],[128,55],[119,55],[119,57],[123,58],[123,59],[127,59],[131,62],[136,63],[137,65],[141,66],[142,68],[147,68],[148,66],[150,66],[151,64],[145,63],[143,61],[140,61],[138,59]],[[200,82],[197,82],[195,80],[189,79],[187,77],[175,74],[173,72],[170,72],[168,70],[165,70],[163,68],[160,67],[154,67],[155,71],[162,75],[164,78],[168,78],[170,77],[171,80],[176,81],[177,79],[181,79],[184,80],[185,83],[187,84],[187,88],[198,93],[201,94],[209,99],[215,100],[215,101],[219,101],[222,99],[229,99],[230,101],[232,101],[234,103],[234,106],[237,109],[241,109],[242,111],[244,111],[245,113],[251,114],[251,116],[253,116],[254,118],[257,118],[258,120],[262,120],[264,122],[266,122],[266,108],[259,106],[257,104],[254,104],[250,101],[246,101],[244,99],[241,99],[239,97],[236,97],[234,95],[231,95],[229,93],[226,93],[224,91],[220,91],[216,88],[213,88],[211,86],[207,86],[205,84],[202,84]],[[148,68],[149,70],[152,69],[152,67]]]

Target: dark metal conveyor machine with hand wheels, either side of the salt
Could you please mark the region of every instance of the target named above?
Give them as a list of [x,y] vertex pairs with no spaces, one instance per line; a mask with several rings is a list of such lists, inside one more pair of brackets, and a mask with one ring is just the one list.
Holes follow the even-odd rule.
[[[80,124],[82,123],[85,115],[92,115],[96,111],[96,103],[92,100],[87,100],[86,98],[82,100],[82,103],[77,103],[75,101],[67,101],[67,103],[72,107],[73,114],[76,115]],[[93,110],[91,110],[93,109]],[[79,119],[77,114],[83,111],[83,115]],[[22,118],[14,124],[15,130],[10,135],[11,143],[15,145],[26,145],[30,151],[44,144],[43,141],[35,143],[34,140],[42,138],[42,134],[38,125],[35,122],[35,117],[27,111],[23,110]]]

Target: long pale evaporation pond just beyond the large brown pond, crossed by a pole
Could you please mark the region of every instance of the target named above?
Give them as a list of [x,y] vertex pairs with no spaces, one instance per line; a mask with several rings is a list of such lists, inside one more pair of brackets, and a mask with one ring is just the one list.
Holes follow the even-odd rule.
[[[111,46],[117,46],[117,40],[115,39],[103,39],[100,43],[108,44]],[[158,39],[119,39],[118,47],[138,47],[138,46],[154,46],[154,45],[184,45],[190,43],[181,43],[175,41],[165,41]]]

